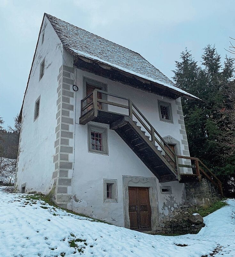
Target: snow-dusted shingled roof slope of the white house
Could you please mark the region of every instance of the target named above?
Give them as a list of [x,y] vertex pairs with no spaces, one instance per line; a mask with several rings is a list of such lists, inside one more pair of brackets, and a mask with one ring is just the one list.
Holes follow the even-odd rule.
[[182,95],[196,98],[178,88],[167,76],[139,53],[45,13],[63,46],[72,54],[100,61],[118,70],[136,75],[173,89]]

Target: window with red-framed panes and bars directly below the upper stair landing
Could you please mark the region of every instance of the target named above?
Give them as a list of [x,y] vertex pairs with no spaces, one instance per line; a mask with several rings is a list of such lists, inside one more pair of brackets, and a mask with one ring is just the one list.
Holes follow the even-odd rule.
[[108,155],[106,128],[88,124],[88,151]]

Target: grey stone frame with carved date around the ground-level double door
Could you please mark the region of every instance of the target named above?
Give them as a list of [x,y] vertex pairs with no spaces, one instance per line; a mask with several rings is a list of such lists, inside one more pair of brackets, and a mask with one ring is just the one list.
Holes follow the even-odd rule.
[[151,208],[151,228],[152,228],[152,231],[156,230],[157,223],[159,222],[159,207],[158,207],[156,178],[122,175],[122,184],[123,184],[124,227],[130,229],[128,187],[148,187],[149,202],[150,202],[150,208]]

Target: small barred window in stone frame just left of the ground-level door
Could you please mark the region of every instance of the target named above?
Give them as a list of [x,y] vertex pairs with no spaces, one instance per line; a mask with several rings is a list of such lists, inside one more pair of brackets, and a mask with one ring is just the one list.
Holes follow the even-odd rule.
[[104,203],[117,203],[116,179],[104,179]]

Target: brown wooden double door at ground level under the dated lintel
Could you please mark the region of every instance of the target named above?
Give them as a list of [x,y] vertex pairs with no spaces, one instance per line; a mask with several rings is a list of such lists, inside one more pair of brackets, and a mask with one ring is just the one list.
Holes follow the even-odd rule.
[[130,229],[151,230],[151,207],[148,187],[128,187]]

